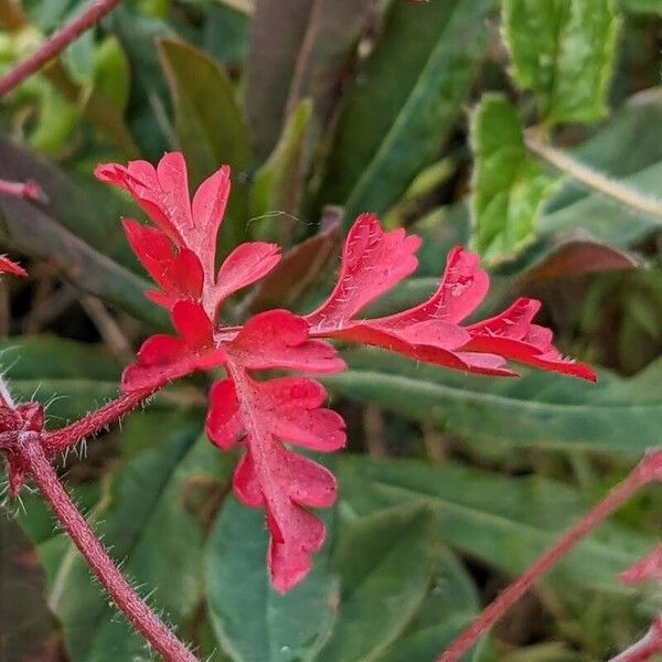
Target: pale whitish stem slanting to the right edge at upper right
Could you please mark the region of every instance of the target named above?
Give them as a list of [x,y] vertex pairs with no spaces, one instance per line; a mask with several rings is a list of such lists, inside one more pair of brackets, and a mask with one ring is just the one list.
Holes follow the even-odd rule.
[[532,131],[526,131],[524,142],[534,154],[544,159],[547,163],[554,166],[554,168],[567,172],[589,189],[594,189],[629,206],[636,212],[662,220],[662,201],[644,195],[621,182],[592,170],[574,159],[567,152],[540,141]]

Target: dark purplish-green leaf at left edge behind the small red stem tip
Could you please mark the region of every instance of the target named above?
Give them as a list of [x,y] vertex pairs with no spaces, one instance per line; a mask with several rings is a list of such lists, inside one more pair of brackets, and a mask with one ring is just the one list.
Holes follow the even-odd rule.
[[135,207],[121,203],[107,186],[78,186],[50,162],[0,138],[0,178],[34,179],[49,202],[38,205],[15,197],[0,200],[0,244],[49,259],[64,278],[124,308],[153,325],[167,323],[166,312],[146,299],[149,284],[125,265],[130,257],[119,216]]

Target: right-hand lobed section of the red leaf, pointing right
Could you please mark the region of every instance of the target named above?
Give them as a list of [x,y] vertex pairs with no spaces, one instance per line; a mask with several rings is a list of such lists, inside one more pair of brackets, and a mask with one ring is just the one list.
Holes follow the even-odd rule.
[[531,324],[537,306],[526,299],[527,319],[515,323],[519,305],[469,328],[459,323],[481,303],[489,277],[478,256],[461,247],[449,255],[437,291],[424,303],[388,317],[353,319],[376,296],[391,289],[416,267],[418,237],[384,233],[375,216],[359,216],[343,250],[339,282],[325,303],[307,316],[314,337],[372,344],[455,370],[513,376],[506,359],[544,370],[594,380],[586,365],[564,359],[552,344],[552,332]]

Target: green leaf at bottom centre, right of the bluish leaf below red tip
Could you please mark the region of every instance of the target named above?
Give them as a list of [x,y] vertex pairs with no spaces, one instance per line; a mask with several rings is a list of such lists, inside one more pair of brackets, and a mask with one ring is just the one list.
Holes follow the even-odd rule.
[[425,508],[405,506],[339,526],[340,612],[318,660],[374,660],[398,638],[427,594],[433,516]]

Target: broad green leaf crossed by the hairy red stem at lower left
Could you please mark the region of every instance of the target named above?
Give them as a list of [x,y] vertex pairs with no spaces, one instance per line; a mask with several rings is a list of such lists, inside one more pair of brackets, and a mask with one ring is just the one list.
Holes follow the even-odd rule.
[[[94,519],[114,557],[124,559],[122,572],[143,592],[153,590],[150,602],[182,627],[203,587],[202,531],[188,508],[188,492],[200,477],[224,482],[229,460],[199,437],[195,419],[171,415],[169,420],[157,444],[120,465]],[[50,602],[73,662],[146,656],[141,637],[99,592],[73,548],[60,566]]]

